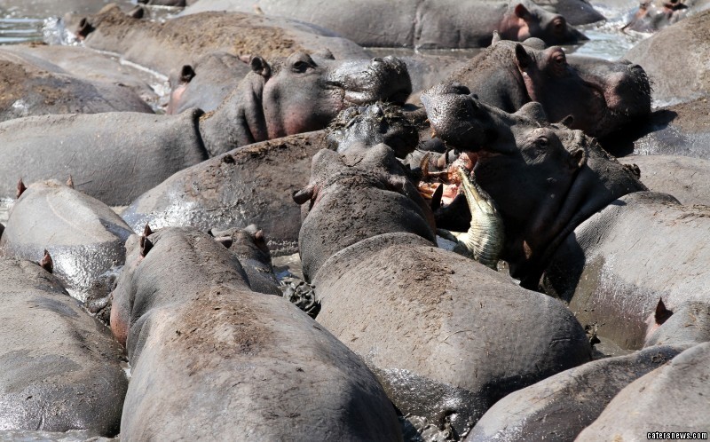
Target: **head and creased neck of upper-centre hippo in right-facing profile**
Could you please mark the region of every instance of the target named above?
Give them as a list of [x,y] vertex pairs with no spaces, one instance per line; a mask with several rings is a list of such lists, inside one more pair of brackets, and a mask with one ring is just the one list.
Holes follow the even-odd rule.
[[345,107],[404,103],[412,91],[405,63],[389,56],[335,60],[329,52],[296,52],[271,63],[253,57],[250,65],[251,72],[201,124],[212,155],[323,129]]

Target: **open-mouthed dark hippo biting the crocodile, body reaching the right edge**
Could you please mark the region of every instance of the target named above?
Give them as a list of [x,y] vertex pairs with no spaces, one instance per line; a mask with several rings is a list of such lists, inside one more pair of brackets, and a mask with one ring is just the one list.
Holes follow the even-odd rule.
[[422,99],[438,137],[477,158],[478,184],[505,225],[501,259],[523,287],[559,297],[583,325],[632,350],[659,299],[670,311],[707,302],[707,208],[648,192],[634,168],[579,130],[545,122],[537,104],[507,114],[454,84]]

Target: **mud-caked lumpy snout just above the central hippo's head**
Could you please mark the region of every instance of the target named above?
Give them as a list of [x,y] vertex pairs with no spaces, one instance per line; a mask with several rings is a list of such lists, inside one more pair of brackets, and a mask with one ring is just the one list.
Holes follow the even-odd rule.
[[354,146],[390,146],[398,158],[411,154],[419,142],[418,128],[401,107],[377,102],[348,107],[327,129],[327,146],[339,153]]

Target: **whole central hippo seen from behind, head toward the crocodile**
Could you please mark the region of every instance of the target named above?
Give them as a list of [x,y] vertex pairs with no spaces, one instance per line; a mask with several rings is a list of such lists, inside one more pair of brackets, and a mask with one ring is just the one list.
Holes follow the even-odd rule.
[[319,323],[367,362],[402,414],[461,437],[509,392],[588,360],[562,304],[436,248],[430,209],[390,147],[319,152],[294,199]]

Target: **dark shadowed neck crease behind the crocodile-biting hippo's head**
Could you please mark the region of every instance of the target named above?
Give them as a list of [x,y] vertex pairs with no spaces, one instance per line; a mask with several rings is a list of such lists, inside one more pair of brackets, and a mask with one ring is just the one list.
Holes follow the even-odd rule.
[[611,201],[627,193],[648,190],[632,171],[607,154],[594,138],[588,146],[588,161],[575,175],[556,221],[548,228],[547,246],[522,263],[511,263],[511,274],[524,288],[538,289],[556,249],[578,225]]

